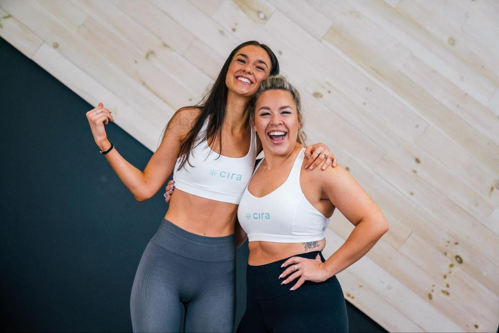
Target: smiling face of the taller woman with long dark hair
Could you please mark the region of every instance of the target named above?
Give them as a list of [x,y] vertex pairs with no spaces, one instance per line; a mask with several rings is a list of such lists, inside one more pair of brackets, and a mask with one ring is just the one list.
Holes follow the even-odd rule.
[[246,96],[253,96],[261,81],[271,70],[267,52],[255,45],[247,45],[236,51],[226,76],[226,85],[230,91]]

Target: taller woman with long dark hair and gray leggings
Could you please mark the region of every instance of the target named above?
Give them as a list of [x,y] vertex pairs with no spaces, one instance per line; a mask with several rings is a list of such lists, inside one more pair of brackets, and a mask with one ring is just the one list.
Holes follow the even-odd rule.
[[[176,181],[135,275],[134,332],[179,331],[183,313],[187,332],[233,330],[237,207],[261,151],[247,105],[260,83],[278,72],[266,45],[249,41],[236,47],[203,101],[172,117],[144,171],[107,139],[111,112],[102,103],[87,112],[95,143],[137,200],[152,197],[172,171]],[[325,168],[333,159],[323,145],[308,154],[315,158],[311,166],[323,162]]]

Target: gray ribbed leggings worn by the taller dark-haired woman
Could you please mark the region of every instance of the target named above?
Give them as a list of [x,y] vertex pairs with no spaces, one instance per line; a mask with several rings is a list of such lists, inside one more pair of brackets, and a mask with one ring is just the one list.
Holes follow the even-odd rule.
[[133,331],[232,332],[235,278],[234,234],[200,236],[163,219],[135,274]]

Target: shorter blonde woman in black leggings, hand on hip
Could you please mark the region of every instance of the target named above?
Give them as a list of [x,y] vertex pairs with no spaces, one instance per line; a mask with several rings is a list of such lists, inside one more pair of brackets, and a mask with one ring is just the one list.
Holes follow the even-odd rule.
[[[250,250],[247,308],[238,332],[348,332],[336,274],[388,230],[379,207],[345,168],[302,171],[300,108],[298,92],[282,76],[264,80],[250,102],[265,158],[238,208]],[[324,230],[335,208],[355,227],[325,260]]]

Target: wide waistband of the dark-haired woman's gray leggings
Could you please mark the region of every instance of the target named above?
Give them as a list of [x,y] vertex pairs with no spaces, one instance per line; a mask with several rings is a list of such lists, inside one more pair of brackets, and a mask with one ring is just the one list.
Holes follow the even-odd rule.
[[235,234],[223,237],[207,237],[186,231],[167,219],[163,219],[151,242],[180,256],[206,261],[236,260]]

